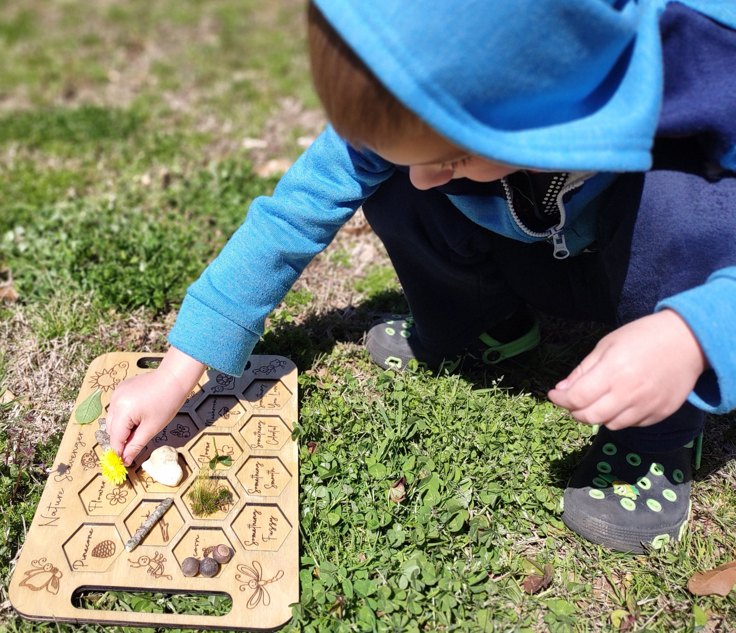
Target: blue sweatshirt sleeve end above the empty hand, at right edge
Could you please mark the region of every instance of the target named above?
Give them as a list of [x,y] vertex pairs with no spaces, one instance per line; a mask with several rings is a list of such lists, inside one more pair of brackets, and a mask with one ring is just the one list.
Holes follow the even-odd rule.
[[657,303],[670,308],[695,334],[712,369],[707,369],[687,400],[709,413],[736,409],[736,266],[714,272],[702,286]]

